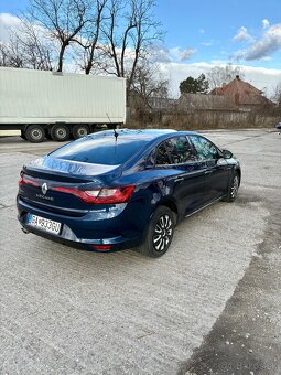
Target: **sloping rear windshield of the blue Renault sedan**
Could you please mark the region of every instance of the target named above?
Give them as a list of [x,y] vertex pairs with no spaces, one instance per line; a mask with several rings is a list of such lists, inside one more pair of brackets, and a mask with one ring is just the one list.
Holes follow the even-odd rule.
[[51,153],[53,158],[82,161],[93,164],[118,165],[131,159],[143,149],[147,141],[129,137],[86,138],[68,143]]

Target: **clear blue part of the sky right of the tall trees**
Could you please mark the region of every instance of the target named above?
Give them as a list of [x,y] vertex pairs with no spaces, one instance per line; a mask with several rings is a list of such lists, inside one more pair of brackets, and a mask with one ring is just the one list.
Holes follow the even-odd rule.
[[[233,61],[239,50],[262,40],[271,26],[281,23],[280,0],[161,0],[156,15],[162,21],[169,49],[194,50],[190,62]],[[241,29],[242,28],[242,29]],[[237,36],[241,30],[240,38]],[[247,34],[246,34],[247,32]],[[237,36],[235,39],[235,36]],[[277,51],[240,63],[281,68],[280,44]],[[264,58],[266,57],[266,58]]]

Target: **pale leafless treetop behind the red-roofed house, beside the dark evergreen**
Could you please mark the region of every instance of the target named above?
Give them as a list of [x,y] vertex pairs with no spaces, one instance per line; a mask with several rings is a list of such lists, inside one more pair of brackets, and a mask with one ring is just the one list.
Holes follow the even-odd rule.
[[228,84],[237,75],[244,78],[244,72],[240,66],[233,66],[227,64],[225,66],[214,66],[207,74],[207,79],[209,82],[209,88],[214,89],[223,86],[223,84]]

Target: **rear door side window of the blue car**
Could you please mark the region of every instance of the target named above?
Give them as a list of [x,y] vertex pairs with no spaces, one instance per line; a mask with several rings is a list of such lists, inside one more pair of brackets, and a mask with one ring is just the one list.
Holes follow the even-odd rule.
[[195,156],[186,137],[173,137],[156,149],[155,164],[182,164],[193,161]]

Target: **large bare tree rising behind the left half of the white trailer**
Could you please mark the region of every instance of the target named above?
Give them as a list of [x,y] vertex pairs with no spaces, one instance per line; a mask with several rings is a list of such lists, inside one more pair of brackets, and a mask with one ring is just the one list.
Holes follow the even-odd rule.
[[88,0],[30,0],[30,21],[37,22],[60,44],[57,72],[63,71],[67,46],[88,22]]

